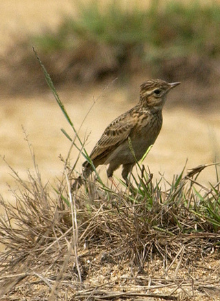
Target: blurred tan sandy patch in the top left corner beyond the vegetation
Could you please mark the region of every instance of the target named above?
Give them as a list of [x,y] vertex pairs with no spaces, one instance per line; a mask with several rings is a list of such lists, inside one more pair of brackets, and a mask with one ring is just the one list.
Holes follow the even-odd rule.
[[14,46],[14,39],[39,34],[46,28],[56,28],[66,13],[72,13],[72,0],[1,0],[0,54]]

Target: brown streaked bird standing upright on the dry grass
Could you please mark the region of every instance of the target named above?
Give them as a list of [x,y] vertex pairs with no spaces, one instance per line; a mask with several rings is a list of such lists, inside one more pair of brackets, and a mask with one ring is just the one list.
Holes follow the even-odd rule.
[[[122,178],[129,185],[129,172],[155,140],[162,128],[162,109],[166,95],[180,82],[167,83],[162,79],[152,79],[140,85],[140,100],[130,110],[115,118],[106,129],[94,149],[90,159],[94,167],[109,165],[108,178],[122,165]],[[131,147],[132,146],[132,147]],[[94,171],[89,160],[83,163],[83,175],[76,178],[72,190],[83,184]]]

